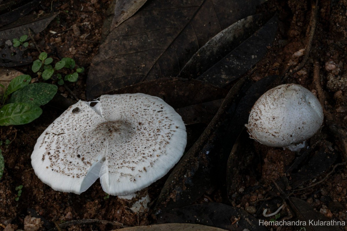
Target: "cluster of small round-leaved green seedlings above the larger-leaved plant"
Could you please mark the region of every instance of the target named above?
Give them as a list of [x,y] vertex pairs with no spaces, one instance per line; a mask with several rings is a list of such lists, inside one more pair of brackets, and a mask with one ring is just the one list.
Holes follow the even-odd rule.
[[[31,69],[33,72],[35,73],[37,72],[38,75],[41,75],[42,79],[44,80],[49,80],[49,79],[57,80],[57,83],[59,85],[63,85],[64,80],[69,82],[76,82],[78,79],[78,73],[82,73],[84,71],[83,67],[75,69],[76,67],[75,60],[68,57],[62,58],[59,62],[57,62],[54,65],[54,68],[51,65],[52,62],[53,62],[53,59],[51,57],[48,57],[46,52],[42,52],[39,55],[39,59],[33,62]],[[72,72],[72,73],[66,74],[64,77],[64,80],[62,78],[61,73],[56,73],[56,71],[61,70],[62,68],[70,69],[71,70],[70,72]],[[41,73],[41,71],[43,72]]]

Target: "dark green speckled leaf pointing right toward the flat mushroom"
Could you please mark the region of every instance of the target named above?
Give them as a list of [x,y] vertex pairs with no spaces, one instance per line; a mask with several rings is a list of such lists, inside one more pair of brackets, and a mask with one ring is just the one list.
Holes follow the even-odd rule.
[[58,87],[49,83],[33,83],[12,94],[9,103],[26,103],[36,106],[48,103]]

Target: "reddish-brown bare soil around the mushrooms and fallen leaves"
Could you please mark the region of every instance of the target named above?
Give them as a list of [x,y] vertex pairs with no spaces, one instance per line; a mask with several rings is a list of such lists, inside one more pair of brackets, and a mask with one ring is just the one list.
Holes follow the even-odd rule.
[[[101,40],[101,28],[109,1],[43,1],[41,6],[33,13],[49,13],[52,9],[60,14],[39,35],[34,37],[37,46],[51,57],[60,59],[72,57],[79,66],[84,66],[86,71],[76,83],[69,83],[67,90],[59,87],[59,93],[71,101],[85,99],[86,73],[93,56],[98,51]],[[313,81],[314,64],[318,62],[320,69],[320,82],[326,108],[325,127],[336,124],[338,127],[347,127],[347,1],[331,0],[321,1],[316,33],[312,43],[310,56],[304,67],[296,72],[288,82],[299,83],[319,94]],[[293,54],[307,44],[310,27],[311,1],[289,0],[273,1],[266,3],[266,8],[277,11],[279,15],[278,35],[264,59],[257,64],[256,71],[252,74],[253,80],[264,76],[280,74],[286,69],[287,63],[298,63],[302,56]],[[73,26],[73,29],[69,29]],[[52,34],[51,31],[62,32]],[[64,32],[63,32],[64,31]],[[37,57],[39,52],[32,51],[32,56]],[[19,70],[23,73],[30,71],[30,66],[23,66]],[[72,93],[71,93],[72,92]],[[24,219],[27,215],[42,218],[42,221],[67,222],[71,220],[99,219],[120,222],[127,226],[146,225],[150,221],[150,211],[136,214],[129,207],[129,201],[121,200],[116,196],[104,198],[101,185],[98,181],[85,193],[76,195],[61,193],[52,190],[43,184],[35,175],[30,156],[37,138],[45,128],[58,117],[62,110],[59,105],[44,106],[43,114],[34,122],[21,126],[8,126],[0,128],[0,139],[8,145],[0,147],[5,159],[5,171],[0,181],[0,223],[3,226],[12,224],[12,228],[23,229]],[[327,117],[328,115],[328,117]],[[322,139],[318,146],[327,148],[339,154],[337,162],[346,161],[346,150],[343,141],[345,136],[335,139],[327,129],[322,130]],[[283,151],[279,148],[268,148],[254,142],[261,163],[258,166],[258,177],[240,181],[238,189],[251,185],[261,185],[261,190],[254,190],[242,197],[236,197],[231,204],[250,211],[254,207],[258,211],[264,199],[268,198],[272,190],[271,182],[285,175],[285,168],[295,159],[296,154]],[[305,183],[308,186],[315,181],[327,177],[322,183],[297,191],[292,196],[308,202],[314,210],[330,219],[347,222],[347,169],[340,166],[328,175],[329,168],[321,176]],[[148,189],[151,199],[156,198],[164,183],[164,179],[151,185]],[[23,185],[22,195],[16,201],[16,186]],[[221,202],[220,189],[211,194],[205,194],[198,203],[208,201]],[[252,206],[252,207],[251,207]],[[34,211],[34,212],[33,212]],[[272,211],[273,212],[273,211]],[[256,213],[256,212],[254,212]],[[289,216],[289,212],[281,212],[282,217]],[[257,213],[258,214],[258,213]],[[262,219],[261,215],[257,218]],[[93,223],[72,225],[67,230],[111,230],[119,225]],[[47,228],[47,227],[46,227]],[[42,230],[46,229],[44,226]],[[278,230],[278,227],[268,227]],[[347,230],[346,227],[340,227]],[[1,230],[2,228],[0,228]],[[281,230],[293,230],[281,227]]]

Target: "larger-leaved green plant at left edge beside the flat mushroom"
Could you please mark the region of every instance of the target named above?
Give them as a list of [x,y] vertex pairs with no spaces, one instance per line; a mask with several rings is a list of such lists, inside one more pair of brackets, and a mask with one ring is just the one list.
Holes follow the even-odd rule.
[[[0,108],[0,126],[32,122],[42,114],[41,105],[48,103],[58,87],[49,83],[32,83],[29,75],[12,79],[7,87]],[[2,86],[3,87],[3,86]],[[7,98],[11,95],[11,98]],[[5,141],[7,142],[7,141]]]

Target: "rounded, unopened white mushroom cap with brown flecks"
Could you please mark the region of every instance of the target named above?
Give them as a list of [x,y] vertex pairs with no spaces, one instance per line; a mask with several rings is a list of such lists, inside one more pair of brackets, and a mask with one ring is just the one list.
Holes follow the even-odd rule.
[[306,88],[291,83],[266,91],[254,104],[246,127],[258,142],[286,147],[310,138],[322,123],[318,99]]

